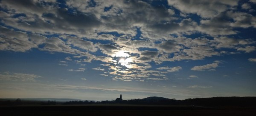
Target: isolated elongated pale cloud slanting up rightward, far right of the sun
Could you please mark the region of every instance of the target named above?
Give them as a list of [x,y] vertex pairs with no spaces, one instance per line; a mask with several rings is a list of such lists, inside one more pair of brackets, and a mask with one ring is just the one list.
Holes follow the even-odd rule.
[[214,61],[214,63],[212,63],[212,64],[201,65],[201,66],[194,66],[193,68],[191,68],[191,70],[192,71],[212,70],[212,68],[217,68],[219,63],[220,63],[220,61]]

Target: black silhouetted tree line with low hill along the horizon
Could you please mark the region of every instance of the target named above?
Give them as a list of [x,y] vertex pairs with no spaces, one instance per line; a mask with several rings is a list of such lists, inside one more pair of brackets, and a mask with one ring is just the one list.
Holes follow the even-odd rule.
[[168,99],[163,97],[147,97],[144,99],[128,99],[122,101],[69,101],[69,102],[38,102],[22,101],[0,101],[0,105],[96,105],[96,104],[131,104],[131,105],[198,105],[198,106],[256,106],[256,97],[212,97],[212,98],[194,98],[194,99]]

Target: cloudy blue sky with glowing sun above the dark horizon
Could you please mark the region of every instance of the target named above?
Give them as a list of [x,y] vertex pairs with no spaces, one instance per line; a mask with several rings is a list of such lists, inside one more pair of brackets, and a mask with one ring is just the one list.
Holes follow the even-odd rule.
[[0,98],[256,96],[256,0],[0,0]]

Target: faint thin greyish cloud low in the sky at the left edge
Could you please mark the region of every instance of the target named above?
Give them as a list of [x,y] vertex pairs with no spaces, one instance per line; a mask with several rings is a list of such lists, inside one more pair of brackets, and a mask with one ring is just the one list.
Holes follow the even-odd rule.
[[40,77],[41,76],[38,76],[35,74],[22,74],[22,73],[10,73],[10,72],[4,72],[0,74],[0,80],[7,80],[7,81],[35,82],[35,79]]

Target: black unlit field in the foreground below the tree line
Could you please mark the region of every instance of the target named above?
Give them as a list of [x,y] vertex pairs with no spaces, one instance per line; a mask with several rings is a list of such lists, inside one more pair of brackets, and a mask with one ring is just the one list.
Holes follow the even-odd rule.
[[1,116],[256,116],[255,108],[161,105],[51,105],[0,107]]

